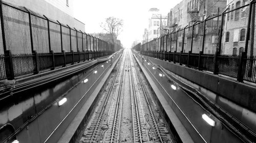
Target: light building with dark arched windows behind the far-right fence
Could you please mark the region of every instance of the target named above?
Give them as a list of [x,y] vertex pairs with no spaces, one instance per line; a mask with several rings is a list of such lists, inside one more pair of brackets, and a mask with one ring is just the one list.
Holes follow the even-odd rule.
[[[249,4],[248,0],[235,0],[230,1],[228,0],[228,10],[225,17],[225,25],[224,25],[224,36],[222,39],[222,47],[224,54],[232,54],[232,55],[239,55],[242,51],[245,50],[245,40],[246,40],[246,32],[247,32],[247,24],[248,24],[248,15],[249,15],[249,6],[240,8]],[[237,9],[239,8],[239,9]],[[237,9],[235,11],[231,11]],[[255,13],[254,16],[251,16],[252,20],[255,20]],[[254,18],[253,18],[254,17]],[[252,28],[251,28],[252,29]],[[255,25],[254,25],[255,29]],[[255,40],[254,34],[250,33],[249,39],[253,43],[249,41],[248,44],[248,55],[256,55],[255,49]]]

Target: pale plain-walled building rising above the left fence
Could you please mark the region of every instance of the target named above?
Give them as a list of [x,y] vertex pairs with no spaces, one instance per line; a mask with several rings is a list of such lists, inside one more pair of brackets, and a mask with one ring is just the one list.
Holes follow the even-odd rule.
[[3,0],[4,2],[45,15],[52,20],[58,20],[70,27],[84,32],[84,23],[74,18],[74,0]]

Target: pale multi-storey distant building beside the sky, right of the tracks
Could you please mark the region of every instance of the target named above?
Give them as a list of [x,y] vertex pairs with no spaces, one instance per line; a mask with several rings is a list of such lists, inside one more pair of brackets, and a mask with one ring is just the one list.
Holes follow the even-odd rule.
[[148,11],[148,41],[167,33],[167,16],[160,14],[159,9],[151,8]]

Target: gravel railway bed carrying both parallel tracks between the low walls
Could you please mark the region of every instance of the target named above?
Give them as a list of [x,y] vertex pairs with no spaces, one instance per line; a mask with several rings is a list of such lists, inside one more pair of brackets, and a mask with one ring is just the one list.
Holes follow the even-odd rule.
[[176,142],[131,50],[120,60],[79,142]]

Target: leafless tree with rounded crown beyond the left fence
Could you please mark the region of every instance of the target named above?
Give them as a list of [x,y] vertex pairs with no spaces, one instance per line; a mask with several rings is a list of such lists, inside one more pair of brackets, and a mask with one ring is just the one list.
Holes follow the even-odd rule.
[[115,42],[115,38],[118,37],[122,31],[123,20],[116,17],[108,17],[104,22],[101,22],[100,26],[103,30],[112,36],[112,42]]

